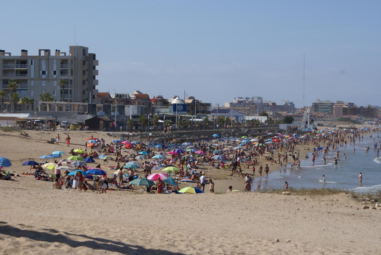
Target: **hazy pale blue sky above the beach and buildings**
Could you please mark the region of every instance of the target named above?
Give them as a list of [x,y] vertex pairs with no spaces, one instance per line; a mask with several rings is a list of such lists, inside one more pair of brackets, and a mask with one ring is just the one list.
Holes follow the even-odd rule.
[[[22,6],[20,6],[22,5]],[[213,105],[262,96],[381,105],[381,1],[2,2],[0,49],[99,60],[98,90],[195,96]],[[303,102],[303,54],[305,100]]]

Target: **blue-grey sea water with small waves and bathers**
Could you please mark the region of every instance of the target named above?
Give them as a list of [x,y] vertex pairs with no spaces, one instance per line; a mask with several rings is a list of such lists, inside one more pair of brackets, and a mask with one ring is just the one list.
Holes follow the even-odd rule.
[[[379,144],[379,139],[376,138],[377,134],[372,134],[372,136],[375,137],[375,142],[373,142],[373,137],[364,135],[364,139],[360,142],[356,140],[355,145],[349,144],[347,138],[347,147],[344,145],[338,147],[340,161],[338,161],[337,168],[332,162],[337,151],[328,151],[328,155],[325,156],[326,165],[324,165],[323,151],[316,156],[313,165],[311,151],[307,154],[309,156],[307,159],[304,159],[304,155],[300,155],[302,170],[293,166],[291,172],[289,162],[288,164],[283,163],[282,169],[272,171],[267,180],[264,179],[264,175],[260,180],[257,175],[258,172],[256,172],[252,190],[282,188],[286,181],[289,187],[293,188],[340,188],[356,193],[372,193],[381,190],[381,158],[376,158],[377,150],[373,151],[375,143]],[[310,144],[309,148],[312,149],[312,146]],[[365,154],[365,148],[368,146],[370,147],[369,151]],[[355,153],[353,153],[354,148],[356,148]],[[347,156],[346,159],[344,159],[344,153]],[[288,156],[288,159],[291,159],[293,163],[291,156]],[[361,187],[359,185],[360,172],[362,172],[363,177]],[[322,179],[323,174],[325,175],[325,182]]]

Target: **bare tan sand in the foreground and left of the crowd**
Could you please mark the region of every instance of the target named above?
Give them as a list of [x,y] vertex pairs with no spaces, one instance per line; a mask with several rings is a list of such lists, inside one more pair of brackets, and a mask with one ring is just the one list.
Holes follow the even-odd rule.
[[[0,155],[13,163],[6,171],[68,150],[34,140],[54,132],[29,134],[0,135]],[[79,144],[90,135],[70,132]],[[381,241],[381,210],[363,210],[350,194],[96,194],[17,180],[0,180],[0,254],[376,254]]]

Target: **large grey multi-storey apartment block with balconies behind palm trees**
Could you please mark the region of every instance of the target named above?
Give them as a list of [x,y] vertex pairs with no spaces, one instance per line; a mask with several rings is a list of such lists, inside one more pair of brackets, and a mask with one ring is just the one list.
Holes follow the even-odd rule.
[[[39,49],[38,56],[29,56],[21,50],[20,56],[0,50],[0,83],[7,91],[5,101],[10,96],[9,80],[18,83],[16,92],[19,97],[40,101],[43,92],[49,92],[54,101],[96,103],[98,94],[98,60],[94,53],[88,53],[83,46],[70,46],[69,53],[56,49],[51,55],[50,49]],[[63,91],[59,80],[66,80]]]

